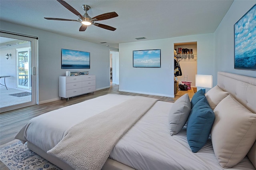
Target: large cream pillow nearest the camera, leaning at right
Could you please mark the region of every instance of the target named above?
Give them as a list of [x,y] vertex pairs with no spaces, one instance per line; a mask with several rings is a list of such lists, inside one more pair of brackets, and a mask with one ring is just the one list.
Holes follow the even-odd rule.
[[256,140],[256,114],[251,113],[231,95],[214,109],[211,130],[214,154],[223,168],[238,164]]

